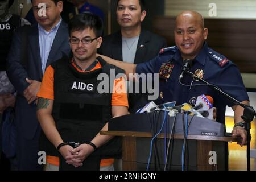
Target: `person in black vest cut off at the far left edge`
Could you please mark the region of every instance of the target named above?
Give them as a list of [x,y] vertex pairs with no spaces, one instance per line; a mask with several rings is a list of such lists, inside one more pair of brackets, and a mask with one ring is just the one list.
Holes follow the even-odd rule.
[[[11,46],[13,31],[24,24],[30,24],[26,19],[9,12],[9,7],[13,2],[13,0],[0,1],[0,127],[3,111],[7,107],[14,107],[15,103],[15,89],[6,75],[6,58]],[[2,151],[2,148],[0,149]]]

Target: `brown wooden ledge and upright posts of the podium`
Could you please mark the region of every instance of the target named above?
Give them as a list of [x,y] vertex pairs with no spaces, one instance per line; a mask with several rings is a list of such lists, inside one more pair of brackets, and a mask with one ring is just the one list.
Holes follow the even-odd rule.
[[[131,132],[131,131],[101,131],[103,135],[113,135],[122,137],[123,147],[123,170],[137,170],[137,144],[136,138],[152,138],[151,133]],[[160,134],[158,138],[164,138]],[[175,134],[174,139],[183,139],[182,134]],[[209,151],[213,150],[213,142],[237,142],[237,139],[232,137],[210,137],[201,135],[188,135],[188,140],[197,140],[197,170],[210,171],[216,170],[216,166],[209,164]]]

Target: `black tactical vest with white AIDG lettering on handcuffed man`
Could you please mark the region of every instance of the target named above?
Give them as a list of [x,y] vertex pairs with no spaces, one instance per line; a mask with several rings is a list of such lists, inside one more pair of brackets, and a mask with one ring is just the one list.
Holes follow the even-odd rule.
[[[98,57],[98,60],[102,68],[88,73],[78,72],[68,58],[52,64],[55,70],[52,115],[64,142],[84,143],[91,141],[106,122],[112,118],[112,94],[110,90],[113,87],[110,86],[110,69],[115,71],[115,75],[123,73],[123,71],[114,65],[107,64],[101,57]],[[102,82],[97,80],[100,73],[105,73],[109,77],[107,81],[109,84],[108,93],[100,94],[97,92],[98,84]],[[59,156],[56,148],[46,138],[41,143],[45,144],[43,147],[41,145],[41,148],[46,151],[47,155]],[[100,159],[119,158],[121,155],[121,139],[115,137],[94,151],[85,160],[86,163],[83,167],[84,169],[97,170],[100,168]],[[65,167],[61,167],[61,165]],[[72,170],[73,167],[67,166],[60,156],[60,169]]]

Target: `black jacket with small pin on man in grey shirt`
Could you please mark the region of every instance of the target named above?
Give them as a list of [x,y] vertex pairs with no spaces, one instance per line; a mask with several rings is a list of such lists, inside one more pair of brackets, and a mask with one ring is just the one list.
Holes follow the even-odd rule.
[[[143,46],[141,46],[143,45]],[[167,46],[166,40],[150,31],[143,30],[139,36],[134,64],[143,63],[156,57],[160,49]],[[98,53],[122,61],[121,31],[105,36]],[[134,113],[148,102],[145,94],[129,94],[129,111]]]

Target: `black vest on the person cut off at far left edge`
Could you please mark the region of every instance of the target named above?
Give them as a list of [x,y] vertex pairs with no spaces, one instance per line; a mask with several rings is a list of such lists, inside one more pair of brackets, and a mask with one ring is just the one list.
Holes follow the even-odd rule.
[[20,27],[20,16],[13,14],[8,22],[0,22],[0,71],[6,71],[6,59],[13,31]]

